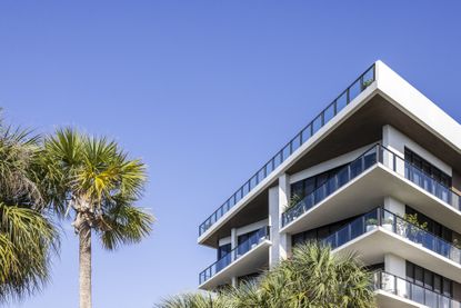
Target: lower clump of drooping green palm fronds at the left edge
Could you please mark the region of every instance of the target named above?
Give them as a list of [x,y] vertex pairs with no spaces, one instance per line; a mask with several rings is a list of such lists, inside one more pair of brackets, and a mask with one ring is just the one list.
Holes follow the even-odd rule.
[[0,299],[39,290],[59,249],[56,226],[36,210],[0,202]]

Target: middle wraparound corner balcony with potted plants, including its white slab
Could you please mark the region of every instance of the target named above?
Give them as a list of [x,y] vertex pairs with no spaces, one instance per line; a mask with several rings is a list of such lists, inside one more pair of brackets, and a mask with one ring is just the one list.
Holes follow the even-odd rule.
[[333,250],[360,251],[367,264],[398,254],[461,282],[461,250],[383,208],[362,215],[322,240]]

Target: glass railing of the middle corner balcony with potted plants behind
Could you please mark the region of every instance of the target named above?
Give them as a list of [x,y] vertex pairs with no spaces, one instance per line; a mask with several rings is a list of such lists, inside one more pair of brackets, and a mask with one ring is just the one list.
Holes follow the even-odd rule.
[[461,250],[459,248],[381,207],[355,218],[322,241],[335,249],[365,232],[377,229],[378,226],[461,265]]

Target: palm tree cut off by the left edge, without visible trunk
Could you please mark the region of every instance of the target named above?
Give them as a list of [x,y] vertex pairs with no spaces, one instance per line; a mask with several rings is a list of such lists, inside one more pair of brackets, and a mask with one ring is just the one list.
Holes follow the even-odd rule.
[[33,170],[39,140],[0,121],[0,302],[40,290],[59,248]]

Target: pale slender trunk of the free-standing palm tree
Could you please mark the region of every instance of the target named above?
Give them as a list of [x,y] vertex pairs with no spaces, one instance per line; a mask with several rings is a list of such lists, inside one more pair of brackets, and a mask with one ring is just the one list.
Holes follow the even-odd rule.
[[91,308],[91,228],[82,223],[79,231],[80,308]]

